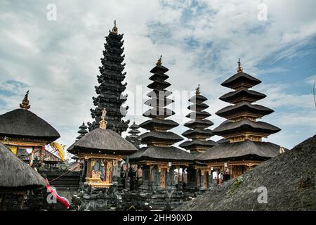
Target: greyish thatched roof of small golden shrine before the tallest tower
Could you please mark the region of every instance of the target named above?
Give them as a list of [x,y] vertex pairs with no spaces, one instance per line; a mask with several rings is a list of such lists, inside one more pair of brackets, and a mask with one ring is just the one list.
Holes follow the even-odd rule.
[[76,141],[67,151],[77,153],[115,153],[129,155],[137,149],[115,131],[110,129],[93,129],[90,133]]

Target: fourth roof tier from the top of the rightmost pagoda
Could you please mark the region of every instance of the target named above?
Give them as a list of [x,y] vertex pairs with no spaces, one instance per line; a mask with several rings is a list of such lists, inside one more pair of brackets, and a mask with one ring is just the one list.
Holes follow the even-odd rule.
[[227,136],[242,132],[253,132],[256,134],[275,134],[280,131],[279,127],[275,127],[272,124],[261,121],[251,121],[246,118],[239,120],[237,122],[232,122],[231,120],[226,120],[218,127],[213,129],[213,134],[218,136]]

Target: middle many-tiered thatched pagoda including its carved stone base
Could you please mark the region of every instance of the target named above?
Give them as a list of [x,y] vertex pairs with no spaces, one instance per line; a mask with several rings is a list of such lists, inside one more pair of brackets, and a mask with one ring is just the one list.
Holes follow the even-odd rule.
[[171,208],[176,206],[183,198],[182,195],[173,192],[174,195],[166,197],[162,193],[166,191],[172,193],[177,190],[173,179],[174,170],[185,169],[194,160],[192,154],[173,146],[183,138],[169,131],[177,127],[178,123],[166,119],[174,115],[172,110],[165,108],[166,105],[173,103],[173,100],[167,98],[172,94],[171,91],[166,90],[171,85],[166,82],[169,78],[165,74],[167,71],[168,69],[162,65],[161,57],[156,66],[150,70],[153,74],[149,78],[152,83],[147,87],[152,91],[147,94],[150,99],[145,102],[145,105],[151,108],[143,114],[150,120],[139,125],[148,130],[140,135],[141,143],[146,146],[129,157],[129,162],[138,165],[143,171],[143,184],[139,186],[138,200],[136,200],[140,208],[145,205],[152,209],[164,209],[167,207],[166,204],[169,204]]

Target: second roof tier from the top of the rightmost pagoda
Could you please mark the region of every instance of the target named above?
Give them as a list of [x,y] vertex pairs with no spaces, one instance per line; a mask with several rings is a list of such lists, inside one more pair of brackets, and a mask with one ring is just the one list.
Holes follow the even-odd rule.
[[262,94],[258,91],[240,89],[238,91],[230,91],[228,94],[224,94],[219,99],[228,103],[237,103],[239,101],[248,101],[253,103],[254,101],[261,100],[265,97],[265,94]]

